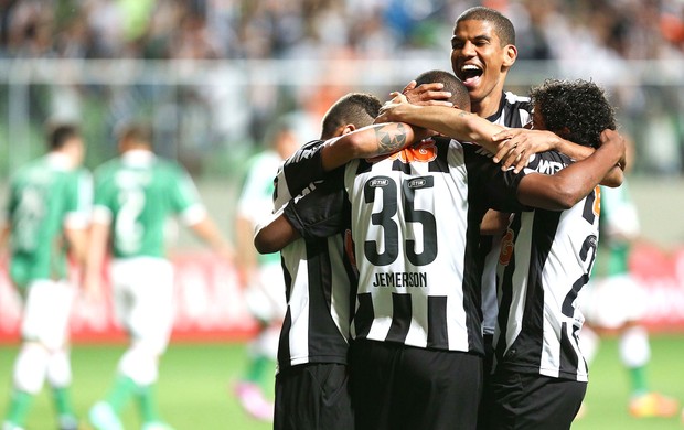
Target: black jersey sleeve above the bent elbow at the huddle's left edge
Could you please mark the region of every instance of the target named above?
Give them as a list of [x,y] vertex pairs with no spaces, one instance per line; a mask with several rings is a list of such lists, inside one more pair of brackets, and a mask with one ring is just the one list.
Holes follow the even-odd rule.
[[[302,197],[290,200],[284,216],[309,240],[343,232],[351,224],[351,207],[343,186],[344,168]],[[339,176],[339,178],[338,178]]]

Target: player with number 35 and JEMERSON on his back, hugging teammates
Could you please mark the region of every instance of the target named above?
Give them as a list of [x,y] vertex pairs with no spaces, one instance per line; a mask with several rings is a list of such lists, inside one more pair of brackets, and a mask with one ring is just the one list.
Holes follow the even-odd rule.
[[[460,88],[456,105],[469,107]],[[414,109],[428,115],[407,118],[427,119],[430,127],[420,126],[443,135],[474,138],[471,127],[482,122],[500,130],[459,109]],[[386,142],[414,139],[412,127],[404,123],[378,130]],[[494,132],[478,138],[492,152]],[[480,270],[473,257],[482,215],[492,204],[517,204],[516,190],[526,204],[571,206],[620,161],[620,139],[610,132],[605,138],[605,147],[559,174],[527,174],[520,182],[506,178],[513,173],[502,172],[482,148],[447,138],[345,166],[343,187],[352,207],[360,272],[351,329],[357,428],[475,428],[483,348]],[[311,216],[304,205],[308,198],[285,209],[303,237],[313,232],[310,226],[321,227],[320,214],[313,211]]]

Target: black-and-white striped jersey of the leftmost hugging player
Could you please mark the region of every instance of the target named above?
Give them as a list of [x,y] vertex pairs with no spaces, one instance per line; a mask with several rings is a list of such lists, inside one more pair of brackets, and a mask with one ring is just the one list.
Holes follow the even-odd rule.
[[[284,163],[276,178],[276,207],[322,186],[321,182],[311,182],[323,176],[322,143],[304,144]],[[338,176],[342,173],[336,171]],[[287,312],[278,344],[278,368],[304,363],[346,364],[356,276],[344,252],[343,234],[298,239],[281,250],[281,261]]]

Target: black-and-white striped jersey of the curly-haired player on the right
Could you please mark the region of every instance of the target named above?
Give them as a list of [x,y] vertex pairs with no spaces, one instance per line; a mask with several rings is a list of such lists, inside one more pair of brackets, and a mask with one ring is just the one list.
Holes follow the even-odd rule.
[[[553,174],[570,163],[555,152],[531,158],[522,174]],[[577,293],[589,279],[598,245],[598,187],[573,208],[514,215],[499,259],[495,366],[587,380],[577,334]]]

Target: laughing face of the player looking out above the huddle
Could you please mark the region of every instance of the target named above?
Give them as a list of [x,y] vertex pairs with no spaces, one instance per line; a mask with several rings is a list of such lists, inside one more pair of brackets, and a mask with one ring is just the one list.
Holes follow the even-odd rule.
[[451,37],[451,67],[466,84],[472,111],[481,117],[496,112],[509,68],[515,62],[514,45],[502,45],[493,23],[463,20]]

